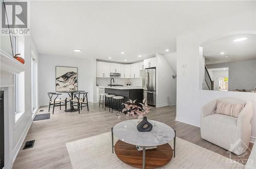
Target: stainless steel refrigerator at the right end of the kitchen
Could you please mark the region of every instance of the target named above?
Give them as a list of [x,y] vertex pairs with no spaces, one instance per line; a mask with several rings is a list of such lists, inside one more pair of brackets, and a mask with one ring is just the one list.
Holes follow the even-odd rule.
[[156,68],[140,70],[144,98],[148,105],[156,105]]

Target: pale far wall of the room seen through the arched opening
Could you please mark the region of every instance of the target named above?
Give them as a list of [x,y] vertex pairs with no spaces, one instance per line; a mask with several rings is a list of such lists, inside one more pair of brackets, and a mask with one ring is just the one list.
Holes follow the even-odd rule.
[[207,65],[208,69],[223,67],[228,67],[228,91],[256,86],[256,60]]

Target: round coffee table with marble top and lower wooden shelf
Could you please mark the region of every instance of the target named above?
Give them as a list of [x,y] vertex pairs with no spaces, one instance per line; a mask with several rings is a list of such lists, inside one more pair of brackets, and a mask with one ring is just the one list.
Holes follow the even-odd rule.
[[[145,168],[147,152],[148,162],[156,164],[148,165],[147,167],[154,168],[167,164],[173,156],[175,157],[176,131],[164,123],[154,120],[148,121],[153,125],[153,129],[150,132],[139,132],[136,127],[138,124],[137,119],[120,122],[116,124],[114,128],[111,128],[112,153],[114,153],[115,148],[117,157],[124,163]],[[113,135],[119,139],[115,146],[113,143]],[[174,149],[168,144],[168,142],[173,139]],[[138,151],[134,145],[142,147],[142,152]],[[148,146],[157,146],[157,149],[146,150]],[[142,165],[138,165],[138,163],[141,162],[138,155],[141,153]],[[161,160],[161,156],[165,157],[165,160]]]

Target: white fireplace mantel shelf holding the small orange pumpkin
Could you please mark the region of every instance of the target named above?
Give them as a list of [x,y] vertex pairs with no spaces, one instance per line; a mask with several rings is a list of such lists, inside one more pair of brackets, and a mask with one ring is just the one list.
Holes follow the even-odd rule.
[[16,59],[11,57],[11,55],[7,54],[5,51],[0,51],[0,69],[1,71],[6,71],[12,74],[18,74],[20,72],[25,71],[25,65],[18,62]]

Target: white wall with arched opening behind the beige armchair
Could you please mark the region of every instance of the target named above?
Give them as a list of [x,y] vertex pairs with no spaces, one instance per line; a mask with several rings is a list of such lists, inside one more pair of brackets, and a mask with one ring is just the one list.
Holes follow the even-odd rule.
[[256,138],[256,94],[201,90],[203,55],[199,47],[212,38],[255,33],[254,14],[255,8],[250,7],[232,16],[236,19],[223,16],[219,20],[209,20],[205,27],[177,38],[177,121],[200,126],[200,109],[207,102],[220,97],[249,99],[253,104],[251,135]]

